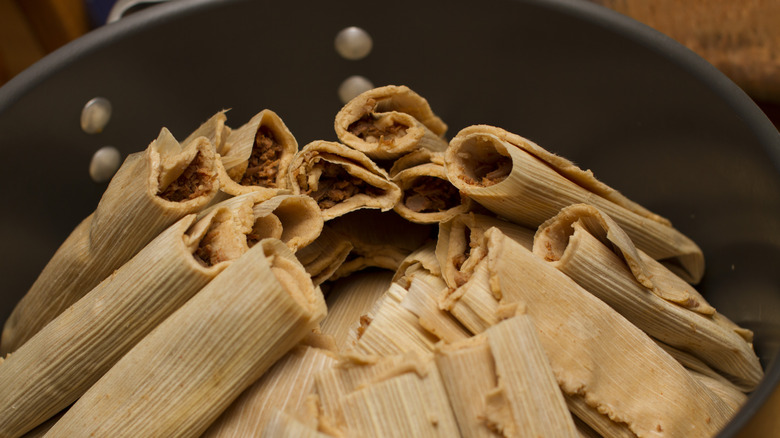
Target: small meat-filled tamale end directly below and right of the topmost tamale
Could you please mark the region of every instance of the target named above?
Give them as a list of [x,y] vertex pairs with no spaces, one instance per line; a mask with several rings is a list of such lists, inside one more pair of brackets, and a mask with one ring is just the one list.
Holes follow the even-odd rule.
[[411,222],[444,222],[472,208],[471,199],[452,185],[442,165],[421,164],[400,171],[392,180],[402,192],[394,210]]

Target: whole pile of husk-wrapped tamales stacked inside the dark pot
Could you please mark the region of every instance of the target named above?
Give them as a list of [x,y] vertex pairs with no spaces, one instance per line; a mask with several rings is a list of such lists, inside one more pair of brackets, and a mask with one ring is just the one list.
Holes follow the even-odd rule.
[[129,157],[6,325],[0,438],[711,437],[763,377],[695,243],[590,171],[407,87],[335,128]]

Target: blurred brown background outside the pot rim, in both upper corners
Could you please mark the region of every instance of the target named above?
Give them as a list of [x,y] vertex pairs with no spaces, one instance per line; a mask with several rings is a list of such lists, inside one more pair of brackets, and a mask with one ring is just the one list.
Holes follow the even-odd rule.
[[[182,0],[172,0],[182,1]],[[580,0],[674,38],[780,126],[780,0]],[[69,41],[154,0],[0,0],[0,85]]]

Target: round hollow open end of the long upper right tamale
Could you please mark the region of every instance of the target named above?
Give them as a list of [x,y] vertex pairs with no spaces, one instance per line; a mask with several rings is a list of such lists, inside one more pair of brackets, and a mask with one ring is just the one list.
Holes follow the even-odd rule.
[[512,172],[512,159],[502,152],[493,138],[473,136],[458,151],[462,171],[458,177],[466,184],[481,187],[500,183]]

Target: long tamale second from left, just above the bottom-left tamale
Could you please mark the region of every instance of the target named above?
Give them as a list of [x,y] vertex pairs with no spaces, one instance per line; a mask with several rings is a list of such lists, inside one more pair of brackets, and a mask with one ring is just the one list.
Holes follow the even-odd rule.
[[251,229],[251,210],[223,207],[194,221],[163,231],[0,366],[0,435],[20,436],[75,402],[246,251],[234,241]]

